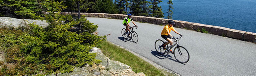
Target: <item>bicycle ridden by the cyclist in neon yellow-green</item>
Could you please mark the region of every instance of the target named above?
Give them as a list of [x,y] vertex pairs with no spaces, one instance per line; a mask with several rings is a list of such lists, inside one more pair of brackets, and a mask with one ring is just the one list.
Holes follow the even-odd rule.
[[[129,38],[131,38],[132,39],[132,41],[133,42],[138,42],[138,40],[139,40],[139,37],[138,37],[138,34],[135,32],[135,31],[133,31],[134,30],[134,27],[136,27],[136,26],[133,26],[133,27],[129,27],[129,29],[130,29],[130,33],[129,34],[126,34],[126,30],[125,30],[125,28],[123,28],[122,29],[122,36],[124,37],[124,38],[127,38],[127,37],[129,37]],[[137,29],[137,27],[136,27],[136,29]],[[130,36],[131,35],[131,36]]]

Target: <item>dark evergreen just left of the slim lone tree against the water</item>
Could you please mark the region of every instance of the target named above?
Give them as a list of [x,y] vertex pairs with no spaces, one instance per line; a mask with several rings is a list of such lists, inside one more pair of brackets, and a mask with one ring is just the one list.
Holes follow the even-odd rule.
[[152,17],[158,17],[158,18],[163,18],[164,13],[162,12],[162,7],[158,7],[158,3],[162,2],[161,0],[151,0],[152,2],[152,7],[150,10],[151,16]]

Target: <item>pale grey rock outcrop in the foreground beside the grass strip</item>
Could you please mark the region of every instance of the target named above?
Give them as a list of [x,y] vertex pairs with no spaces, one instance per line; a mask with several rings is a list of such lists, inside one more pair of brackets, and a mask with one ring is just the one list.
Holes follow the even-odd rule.
[[[146,76],[142,72],[133,72],[131,67],[123,63],[110,60],[99,48],[94,47],[91,52],[97,53],[96,59],[102,61],[99,65],[75,68],[71,73],[59,73],[57,76]],[[56,76],[56,74],[48,76]]]

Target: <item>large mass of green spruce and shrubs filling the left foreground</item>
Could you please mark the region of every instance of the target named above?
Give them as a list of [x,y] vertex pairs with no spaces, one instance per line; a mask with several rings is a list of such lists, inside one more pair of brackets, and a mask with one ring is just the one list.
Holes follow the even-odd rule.
[[[49,25],[46,28],[32,23],[18,30],[0,29],[1,48],[6,53],[6,63],[0,69],[1,75],[47,75],[52,73],[71,72],[74,67],[86,64],[98,64],[96,53],[89,53],[97,43],[105,40],[94,34],[97,25],[86,18],[62,15],[65,6],[62,2],[44,0],[41,3],[49,12],[42,20]],[[82,33],[70,32],[71,25],[82,25]],[[21,29],[21,30],[20,30]],[[24,32],[23,32],[23,31]]]

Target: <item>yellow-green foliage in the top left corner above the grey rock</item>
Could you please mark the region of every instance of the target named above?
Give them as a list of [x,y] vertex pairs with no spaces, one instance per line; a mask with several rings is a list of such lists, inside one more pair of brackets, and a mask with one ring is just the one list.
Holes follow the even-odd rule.
[[42,16],[37,0],[1,0],[0,13],[6,17],[34,19]]

